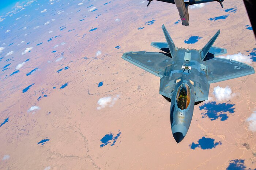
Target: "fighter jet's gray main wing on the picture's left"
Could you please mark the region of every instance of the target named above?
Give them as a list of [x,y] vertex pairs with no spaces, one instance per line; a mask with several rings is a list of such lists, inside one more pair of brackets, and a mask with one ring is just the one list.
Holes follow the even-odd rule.
[[172,58],[166,53],[146,51],[126,52],[123,54],[122,59],[161,78],[166,66],[172,62]]

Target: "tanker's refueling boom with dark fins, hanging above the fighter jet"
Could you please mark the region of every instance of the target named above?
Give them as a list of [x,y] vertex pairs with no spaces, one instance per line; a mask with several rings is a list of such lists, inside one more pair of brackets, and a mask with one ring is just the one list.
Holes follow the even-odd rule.
[[[151,1],[153,0],[147,0],[148,5],[151,3]],[[223,4],[222,2],[224,0],[157,0],[157,1],[162,1],[162,2],[167,2],[167,3],[171,3],[171,4],[175,4],[178,12],[180,13],[180,19],[181,19],[181,24],[188,26],[188,19],[189,19],[189,15],[188,15],[188,6],[189,5],[195,5],[195,4],[202,4],[202,3],[208,3],[208,2],[214,2],[217,1],[221,4],[221,7],[223,8]]]

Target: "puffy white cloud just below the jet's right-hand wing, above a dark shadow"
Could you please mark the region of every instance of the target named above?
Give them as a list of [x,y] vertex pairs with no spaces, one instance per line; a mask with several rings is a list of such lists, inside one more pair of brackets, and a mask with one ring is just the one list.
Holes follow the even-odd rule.
[[229,86],[226,86],[225,88],[222,87],[214,87],[213,92],[215,98],[219,101],[227,101],[234,97],[236,94],[232,94],[232,90]]

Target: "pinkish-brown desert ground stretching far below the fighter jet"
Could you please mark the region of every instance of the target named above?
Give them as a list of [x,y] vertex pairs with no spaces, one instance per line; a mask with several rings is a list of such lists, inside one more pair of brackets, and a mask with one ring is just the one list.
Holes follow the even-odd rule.
[[[236,159],[244,160],[245,169],[256,168],[255,132],[246,121],[256,110],[255,74],[211,84],[211,101],[234,104],[234,113],[225,112],[225,121],[211,120],[202,117],[206,111],[199,107],[205,102],[198,104],[188,134],[177,144],[170,128],[170,103],[159,94],[160,79],[121,59],[128,51],[160,52],[150,43],[165,41],[162,24],[177,47],[199,50],[220,29],[214,46],[226,48],[224,56],[248,56],[256,42],[253,31],[246,29],[251,24],[243,1],[226,0],[224,9],[217,2],[191,8],[188,27],[174,24],[180,20],[174,4],[146,5],[142,0],[34,1],[5,16],[0,22],[0,66],[11,65],[0,71],[0,123],[8,118],[0,127],[0,169],[215,170],[226,169]],[[91,11],[97,10],[88,11],[93,7]],[[225,12],[228,8],[237,11]],[[47,12],[40,12],[44,9]],[[228,16],[208,20],[223,15]],[[202,39],[184,43],[191,36]],[[14,53],[7,55],[10,51]],[[217,100],[212,93],[217,86],[229,86],[231,98]],[[110,102],[101,107],[98,101],[105,97]],[[32,106],[40,109],[29,110]],[[101,147],[107,134],[117,139]],[[221,145],[191,149],[202,137]]]

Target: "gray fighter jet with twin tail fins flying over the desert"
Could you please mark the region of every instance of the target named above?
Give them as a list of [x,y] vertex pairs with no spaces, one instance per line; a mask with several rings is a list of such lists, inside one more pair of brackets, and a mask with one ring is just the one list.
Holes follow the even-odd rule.
[[177,48],[164,25],[166,42],[152,42],[151,46],[163,52],[126,52],[122,58],[151,74],[160,77],[159,93],[171,102],[172,134],[179,143],[187,134],[194,105],[208,99],[211,83],[253,74],[245,63],[216,58],[226,49],[212,46],[220,31],[201,49]]

